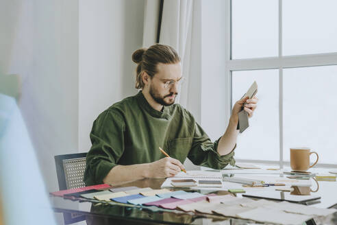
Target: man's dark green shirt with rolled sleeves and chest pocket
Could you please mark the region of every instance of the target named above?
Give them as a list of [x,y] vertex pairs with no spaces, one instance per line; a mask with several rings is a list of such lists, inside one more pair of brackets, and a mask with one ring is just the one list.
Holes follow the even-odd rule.
[[[92,147],[86,156],[86,185],[103,183],[116,165],[151,163],[164,158],[162,147],[184,163],[221,169],[234,165],[234,151],[220,156],[219,139],[212,143],[188,110],[179,104],[153,109],[142,92],[110,106],[94,121]],[[235,147],[234,147],[235,148]]]

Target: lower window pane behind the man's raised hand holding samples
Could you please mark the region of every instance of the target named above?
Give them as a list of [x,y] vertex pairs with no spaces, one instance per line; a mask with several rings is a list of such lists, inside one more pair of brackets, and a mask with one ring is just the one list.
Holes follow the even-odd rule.
[[255,80],[258,108],[249,119],[249,128],[239,134],[236,158],[279,160],[279,76],[277,69],[232,72],[232,102],[242,97]]

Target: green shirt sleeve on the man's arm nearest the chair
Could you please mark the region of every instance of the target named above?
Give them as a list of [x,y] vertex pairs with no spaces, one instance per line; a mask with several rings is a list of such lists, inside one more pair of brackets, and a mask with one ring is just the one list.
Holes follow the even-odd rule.
[[86,156],[84,182],[88,185],[103,183],[109,171],[121,158],[124,146],[125,122],[118,112],[106,110],[94,121],[90,132],[92,147]]

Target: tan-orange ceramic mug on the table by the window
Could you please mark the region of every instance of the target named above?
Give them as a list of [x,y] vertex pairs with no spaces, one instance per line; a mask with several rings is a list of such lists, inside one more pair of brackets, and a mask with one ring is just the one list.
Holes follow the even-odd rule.
[[[310,155],[316,154],[316,162],[310,165]],[[319,154],[310,152],[309,147],[292,147],[290,148],[290,167],[294,171],[306,171],[316,165],[319,161]]]

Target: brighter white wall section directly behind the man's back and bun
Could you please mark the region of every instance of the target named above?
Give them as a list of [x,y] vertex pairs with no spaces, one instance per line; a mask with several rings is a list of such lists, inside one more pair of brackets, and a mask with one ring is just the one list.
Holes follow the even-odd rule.
[[142,47],[144,1],[79,1],[79,152],[99,113],[137,93],[132,53]]

